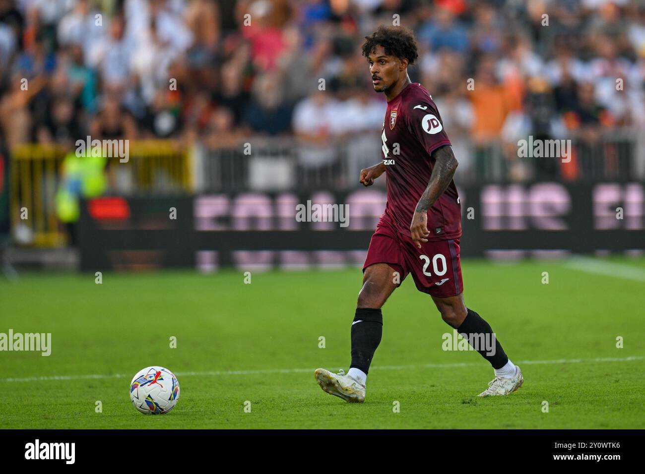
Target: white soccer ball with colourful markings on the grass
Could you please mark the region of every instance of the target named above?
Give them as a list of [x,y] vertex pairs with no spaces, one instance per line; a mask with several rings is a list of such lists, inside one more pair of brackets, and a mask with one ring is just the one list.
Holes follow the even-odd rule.
[[179,400],[177,377],[161,366],[146,367],[130,382],[130,400],[146,415],[168,413]]

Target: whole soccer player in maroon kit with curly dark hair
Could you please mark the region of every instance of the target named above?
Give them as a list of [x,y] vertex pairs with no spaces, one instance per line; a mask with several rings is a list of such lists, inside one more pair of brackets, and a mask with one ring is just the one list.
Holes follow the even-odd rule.
[[365,40],[362,55],[370,64],[374,90],[385,94],[388,108],[381,134],[382,163],[362,170],[360,182],[371,186],[386,173],[388,202],[363,266],[350,370],[345,375],[342,370],[336,374],[317,369],[315,379],[331,395],[348,402],[365,400],[368,371],[381,342],[381,307],[412,273],[417,290],[432,297],[442,319],[493,366],[495,379],[479,396],[508,395],[524,378],[490,324],[464,304],[461,206],[452,179],[457,159],[432,97],[408,77],[408,64],[418,56],[413,34],[400,26],[379,26]]

